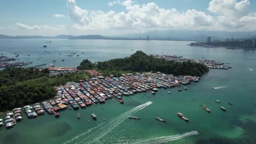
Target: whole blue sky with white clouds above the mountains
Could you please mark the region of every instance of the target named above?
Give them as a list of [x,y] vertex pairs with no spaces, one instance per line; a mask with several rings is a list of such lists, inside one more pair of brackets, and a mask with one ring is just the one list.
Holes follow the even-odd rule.
[[256,30],[256,0],[0,0],[3,35]]

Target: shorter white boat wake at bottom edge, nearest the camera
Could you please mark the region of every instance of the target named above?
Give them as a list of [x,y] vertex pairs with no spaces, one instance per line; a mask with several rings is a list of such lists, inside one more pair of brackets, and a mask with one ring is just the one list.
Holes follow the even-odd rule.
[[128,142],[123,141],[122,144],[162,144],[168,141],[176,141],[178,139],[183,139],[185,137],[193,136],[197,134],[199,134],[198,131],[190,131],[187,133],[177,134],[173,136],[161,136],[161,137],[152,138],[152,139],[137,140],[137,141],[135,140],[135,141],[128,141]]

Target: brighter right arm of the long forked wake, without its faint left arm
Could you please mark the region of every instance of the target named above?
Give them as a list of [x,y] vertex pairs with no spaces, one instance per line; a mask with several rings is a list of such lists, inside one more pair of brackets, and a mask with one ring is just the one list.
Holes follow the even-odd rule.
[[[141,109],[144,109],[145,107],[147,107],[148,105],[152,104],[152,101],[148,101],[145,104],[141,104],[131,110],[128,110],[127,112],[123,113],[122,115],[120,115],[119,117],[116,117],[114,120],[112,120],[111,122],[109,122],[107,125],[103,126],[102,128],[99,129],[99,133],[94,133],[93,135],[97,136],[96,139],[93,139],[92,141],[89,141],[90,144],[94,144],[94,143],[104,143],[104,141],[100,141],[101,138],[103,138],[104,136],[107,135],[107,133],[109,133],[110,131],[112,131],[114,128],[116,128],[118,125],[120,125],[120,123],[122,123],[125,119],[127,119],[127,117],[135,112],[138,112]],[[83,141],[81,141],[82,143],[84,143]]]

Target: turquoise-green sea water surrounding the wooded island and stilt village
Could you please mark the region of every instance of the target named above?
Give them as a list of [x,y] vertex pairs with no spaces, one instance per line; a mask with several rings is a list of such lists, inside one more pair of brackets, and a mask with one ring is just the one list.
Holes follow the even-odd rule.
[[[155,95],[140,93],[131,98],[124,97],[124,104],[108,100],[105,104],[93,105],[87,109],[67,109],[60,112],[58,119],[48,114],[27,119],[24,114],[24,120],[18,122],[14,128],[7,130],[0,127],[0,144],[117,144],[166,141],[167,144],[256,143],[254,51],[189,47],[188,41],[51,40],[52,43],[44,43],[45,41],[49,40],[0,40],[0,53],[9,57],[15,57],[11,53],[17,53],[20,55],[20,61],[32,61],[32,65],[48,66],[56,60],[56,67],[75,67],[83,59],[104,61],[130,56],[141,50],[147,54],[163,52],[187,58],[205,57],[230,63],[232,69],[210,69],[199,83],[191,84],[188,91],[178,92],[173,88],[161,89]],[[40,48],[45,44],[47,48]],[[70,53],[80,56],[67,56]],[[43,58],[37,60],[39,57]],[[213,90],[214,87],[221,88]],[[172,94],[167,94],[167,91]],[[215,100],[221,101],[221,104]],[[143,107],[142,104],[148,101],[152,101],[152,104]],[[228,102],[234,105],[229,105]],[[203,110],[199,106],[201,104],[208,105],[211,113]],[[227,112],[221,111],[220,106],[225,107]],[[143,109],[139,110],[140,107]],[[78,112],[81,114],[80,120],[77,119]],[[177,117],[177,112],[182,112],[189,118],[189,123]],[[97,121],[91,119],[91,113],[97,115]],[[141,117],[141,120],[129,120],[127,115]],[[3,115],[0,117],[4,118]],[[168,120],[168,123],[156,121],[155,117]],[[201,133],[192,135],[192,131]]]

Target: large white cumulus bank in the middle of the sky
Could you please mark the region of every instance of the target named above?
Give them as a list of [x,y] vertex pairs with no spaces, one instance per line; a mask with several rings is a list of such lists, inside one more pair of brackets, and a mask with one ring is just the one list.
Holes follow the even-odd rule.
[[91,11],[78,7],[75,0],[67,0],[69,18],[77,29],[134,29],[134,28],[184,28],[205,27],[213,24],[213,17],[195,9],[179,12],[159,8],[155,3],[136,5],[131,0],[115,0],[109,5],[121,4],[127,12]]

